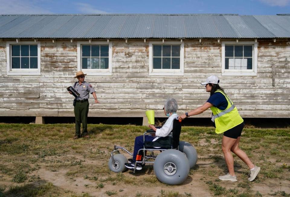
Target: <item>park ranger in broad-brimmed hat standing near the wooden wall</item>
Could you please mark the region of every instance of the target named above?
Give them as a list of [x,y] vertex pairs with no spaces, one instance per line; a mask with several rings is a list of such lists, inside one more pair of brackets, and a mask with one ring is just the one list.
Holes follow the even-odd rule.
[[[78,71],[74,78],[77,78],[79,81],[75,82],[72,86],[80,95],[76,97],[76,102],[74,106],[74,113],[76,117],[76,135],[73,139],[80,137],[89,138],[88,128],[87,128],[87,119],[89,112],[89,93],[91,93],[95,99],[95,103],[100,103],[97,99],[95,89],[91,84],[85,82],[85,75],[82,71]],[[72,94],[72,92],[69,92]],[[81,135],[81,122],[82,122],[82,135]]]

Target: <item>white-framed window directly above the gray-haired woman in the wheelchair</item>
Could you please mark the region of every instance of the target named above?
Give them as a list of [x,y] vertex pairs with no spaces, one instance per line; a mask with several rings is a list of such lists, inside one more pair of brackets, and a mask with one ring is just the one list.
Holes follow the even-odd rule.
[[183,43],[156,41],[149,45],[149,75],[183,75]]

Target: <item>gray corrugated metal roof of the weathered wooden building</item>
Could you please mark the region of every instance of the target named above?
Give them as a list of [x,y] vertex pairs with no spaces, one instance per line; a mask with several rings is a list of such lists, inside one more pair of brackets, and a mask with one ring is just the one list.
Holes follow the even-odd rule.
[[0,15],[0,38],[290,38],[290,15]]

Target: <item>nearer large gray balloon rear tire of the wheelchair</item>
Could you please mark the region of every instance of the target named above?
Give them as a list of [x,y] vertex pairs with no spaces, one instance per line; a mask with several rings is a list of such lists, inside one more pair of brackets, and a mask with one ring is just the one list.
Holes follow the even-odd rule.
[[168,149],[156,157],[153,169],[160,182],[178,185],[188,176],[189,162],[182,152]]

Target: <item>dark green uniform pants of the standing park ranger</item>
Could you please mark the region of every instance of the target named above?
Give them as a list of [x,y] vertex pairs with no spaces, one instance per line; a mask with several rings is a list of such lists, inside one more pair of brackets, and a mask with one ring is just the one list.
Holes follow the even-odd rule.
[[89,112],[89,101],[76,102],[74,108],[76,117],[76,135],[81,135],[81,122],[82,122],[82,135],[88,135],[88,112]]

